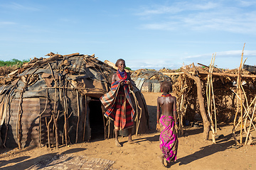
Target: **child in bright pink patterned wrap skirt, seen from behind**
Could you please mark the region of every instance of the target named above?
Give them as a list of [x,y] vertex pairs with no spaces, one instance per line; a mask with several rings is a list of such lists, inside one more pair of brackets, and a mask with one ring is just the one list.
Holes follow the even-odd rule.
[[157,98],[156,130],[161,131],[159,141],[163,153],[162,163],[169,166],[170,162],[176,162],[178,149],[176,97],[169,94],[172,91],[171,82],[162,82],[160,89],[163,94]]

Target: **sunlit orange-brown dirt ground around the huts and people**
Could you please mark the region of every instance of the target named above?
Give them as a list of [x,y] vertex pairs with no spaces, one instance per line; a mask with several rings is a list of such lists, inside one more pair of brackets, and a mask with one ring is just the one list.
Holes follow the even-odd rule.
[[[120,148],[115,147],[114,140],[110,139],[60,147],[58,150],[46,147],[1,149],[0,169],[29,169],[38,162],[47,164],[47,161],[59,154],[111,160],[114,161],[112,169],[166,169],[159,159],[160,133],[155,130],[156,98],[161,94],[143,94],[149,108],[150,129],[147,134],[133,135],[137,145],[127,144],[127,137],[120,137]],[[218,134],[224,137],[213,145],[210,140],[202,140],[203,127],[187,128],[185,135],[178,137],[177,161],[170,169],[256,169],[256,146],[247,145],[236,149],[233,147],[235,142],[231,135],[232,125],[220,125],[220,129]],[[78,169],[75,165],[72,168]]]

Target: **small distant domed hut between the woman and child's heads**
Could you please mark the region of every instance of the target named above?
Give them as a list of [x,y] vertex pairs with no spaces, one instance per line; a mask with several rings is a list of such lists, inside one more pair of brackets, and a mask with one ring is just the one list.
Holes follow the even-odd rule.
[[132,72],[131,78],[140,91],[155,93],[161,92],[160,83],[162,81],[171,81],[170,77],[154,69],[137,69]]

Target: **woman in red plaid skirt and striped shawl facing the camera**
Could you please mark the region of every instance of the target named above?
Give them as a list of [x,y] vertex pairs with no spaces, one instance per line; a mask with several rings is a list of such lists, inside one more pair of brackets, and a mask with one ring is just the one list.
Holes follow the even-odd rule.
[[100,98],[103,106],[107,108],[105,116],[114,120],[114,144],[121,147],[118,140],[118,131],[128,129],[128,143],[132,141],[132,127],[134,108],[129,96],[129,88],[132,89],[132,80],[129,72],[125,72],[125,61],[117,60],[117,72],[112,77],[111,91]]

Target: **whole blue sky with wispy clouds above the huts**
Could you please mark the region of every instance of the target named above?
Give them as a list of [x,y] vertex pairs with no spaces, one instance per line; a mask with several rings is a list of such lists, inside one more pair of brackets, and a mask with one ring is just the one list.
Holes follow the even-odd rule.
[[4,1],[0,60],[49,52],[122,58],[132,69],[256,64],[256,1]]

